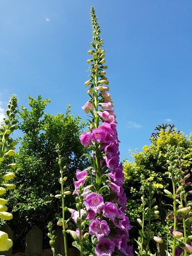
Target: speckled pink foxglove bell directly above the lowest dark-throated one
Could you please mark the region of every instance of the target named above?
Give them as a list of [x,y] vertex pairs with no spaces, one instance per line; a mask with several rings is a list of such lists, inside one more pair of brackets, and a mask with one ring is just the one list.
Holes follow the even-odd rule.
[[98,240],[104,236],[108,236],[109,232],[110,229],[107,221],[98,218],[89,222],[89,234],[95,235]]

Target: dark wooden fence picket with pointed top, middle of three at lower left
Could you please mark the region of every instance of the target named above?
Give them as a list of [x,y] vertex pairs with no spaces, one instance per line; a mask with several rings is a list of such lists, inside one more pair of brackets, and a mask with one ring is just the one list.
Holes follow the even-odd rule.
[[42,256],[42,232],[34,226],[26,236],[25,244],[26,256]]

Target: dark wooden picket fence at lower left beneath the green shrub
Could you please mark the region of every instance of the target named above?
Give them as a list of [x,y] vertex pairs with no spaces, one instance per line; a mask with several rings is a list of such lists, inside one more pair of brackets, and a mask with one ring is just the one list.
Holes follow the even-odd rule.
[[[8,234],[9,238],[13,240],[13,230],[9,225],[4,225],[1,228]],[[55,231],[56,243],[55,252],[56,254],[61,254],[64,256],[64,240],[63,232],[61,227],[57,227]],[[78,256],[79,251],[76,248],[68,248],[69,256]],[[42,231],[35,226],[26,235],[25,251],[13,251],[13,248],[9,249],[7,252],[0,252],[0,256],[52,256],[51,249],[42,249]]]

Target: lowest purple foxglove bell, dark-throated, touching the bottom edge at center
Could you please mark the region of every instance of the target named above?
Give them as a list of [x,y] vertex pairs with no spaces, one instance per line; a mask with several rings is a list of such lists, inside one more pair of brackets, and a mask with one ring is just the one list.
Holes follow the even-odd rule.
[[97,256],[112,256],[115,250],[115,243],[109,238],[101,238],[95,247],[95,253]]

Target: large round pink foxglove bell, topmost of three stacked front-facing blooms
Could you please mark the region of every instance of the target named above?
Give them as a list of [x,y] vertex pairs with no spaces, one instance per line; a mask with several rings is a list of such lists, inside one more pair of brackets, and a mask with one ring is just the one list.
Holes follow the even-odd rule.
[[95,192],[90,193],[85,198],[85,207],[88,210],[92,210],[95,213],[99,213],[104,207],[103,196]]

